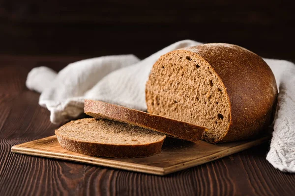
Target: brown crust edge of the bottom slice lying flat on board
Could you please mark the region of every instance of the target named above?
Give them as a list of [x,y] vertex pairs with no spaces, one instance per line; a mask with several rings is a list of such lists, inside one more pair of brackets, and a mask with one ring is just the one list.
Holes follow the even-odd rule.
[[136,158],[147,157],[161,152],[163,140],[146,145],[110,145],[83,142],[64,137],[56,130],[55,132],[61,147],[94,156],[115,157],[115,158]]

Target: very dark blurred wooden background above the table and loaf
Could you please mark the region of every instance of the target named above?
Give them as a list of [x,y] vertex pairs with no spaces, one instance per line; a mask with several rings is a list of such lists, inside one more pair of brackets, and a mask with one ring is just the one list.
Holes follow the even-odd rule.
[[0,0],[0,53],[144,58],[192,39],[294,62],[294,8],[269,0]]

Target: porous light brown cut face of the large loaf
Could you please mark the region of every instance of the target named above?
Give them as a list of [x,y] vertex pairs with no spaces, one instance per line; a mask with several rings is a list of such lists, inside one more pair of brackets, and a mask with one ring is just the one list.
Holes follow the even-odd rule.
[[220,140],[230,124],[230,103],[225,87],[196,54],[172,52],[154,65],[146,89],[148,112],[199,124],[204,137]]

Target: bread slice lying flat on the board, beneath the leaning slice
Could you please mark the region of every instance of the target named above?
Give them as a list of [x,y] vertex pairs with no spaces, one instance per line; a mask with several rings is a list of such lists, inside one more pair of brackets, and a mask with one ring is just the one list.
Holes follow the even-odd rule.
[[80,119],[55,131],[61,147],[95,156],[133,158],[161,152],[165,135],[106,119]]

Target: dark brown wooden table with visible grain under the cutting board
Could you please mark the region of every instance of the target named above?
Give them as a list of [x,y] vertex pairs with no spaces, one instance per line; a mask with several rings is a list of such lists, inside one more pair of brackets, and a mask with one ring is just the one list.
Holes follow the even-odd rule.
[[26,77],[33,67],[59,71],[83,57],[0,56],[0,196],[10,195],[293,195],[295,175],[266,161],[269,143],[167,176],[113,170],[10,152],[54,134]]

